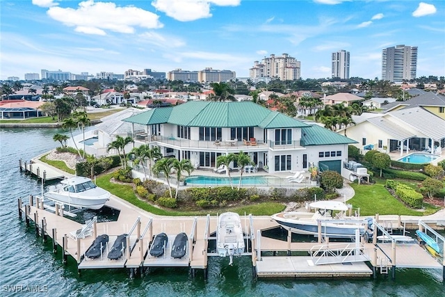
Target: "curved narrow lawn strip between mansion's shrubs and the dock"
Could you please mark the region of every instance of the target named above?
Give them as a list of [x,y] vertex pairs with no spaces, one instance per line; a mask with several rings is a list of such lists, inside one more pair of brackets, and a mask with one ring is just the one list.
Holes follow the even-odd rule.
[[202,209],[201,211],[179,211],[179,210],[165,210],[160,209],[158,207],[154,207],[151,204],[139,200],[133,192],[133,187],[131,184],[113,184],[110,182],[112,173],[102,175],[97,177],[96,182],[97,186],[101,188],[105,188],[107,191],[110,191],[113,195],[130,202],[131,204],[139,207],[140,209],[144,209],[145,211],[149,211],[152,214],[157,214],[160,216],[203,216],[206,214],[216,215],[217,213],[222,213],[224,211],[234,211],[237,214],[252,214],[254,216],[271,216],[280,212],[284,209],[284,205],[277,202],[265,202],[253,205],[245,205],[242,207],[232,207],[226,209]]

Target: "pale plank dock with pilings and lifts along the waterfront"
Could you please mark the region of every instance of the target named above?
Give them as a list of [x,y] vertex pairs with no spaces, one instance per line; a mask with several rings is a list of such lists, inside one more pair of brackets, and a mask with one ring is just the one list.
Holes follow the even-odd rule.
[[[204,271],[207,277],[209,240],[214,240],[217,229],[216,216],[201,217],[162,217],[134,207],[132,204],[112,195],[106,205],[113,209],[119,209],[120,215],[115,222],[94,223],[94,232],[85,238],[73,238],[70,234],[83,227],[70,218],[61,216],[61,211],[44,209],[43,203],[37,198],[30,198],[24,205],[19,199],[19,216],[25,214],[26,223],[29,220],[35,222],[36,234],[44,239],[48,236],[53,239],[54,250],[57,246],[62,247],[63,260],[66,262],[67,255],[76,261],[79,272],[81,269],[92,268],[129,268],[131,274],[140,268],[149,267],[189,267],[192,275],[196,270]],[[245,233],[247,249],[243,255],[252,257],[252,271],[259,278],[270,277],[369,277],[376,276],[376,272],[387,273],[389,268],[442,268],[445,274],[445,262],[438,262],[424,248],[418,244],[408,243],[360,243],[359,252],[337,258],[314,259],[313,250],[320,246],[319,242],[292,242],[289,233],[286,240],[270,239],[262,236],[262,230],[270,230],[279,225],[270,220],[269,216],[241,216],[241,224]],[[400,225],[400,224],[399,224]],[[149,248],[153,237],[160,232],[168,234],[168,248],[161,257],[149,255]],[[186,255],[181,259],[170,257],[171,244],[176,234],[186,232],[189,236]],[[129,234],[127,237],[127,249],[118,260],[108,259],[106,250],[113,245],[115,238],[120,234]],[[108,248],[102,257],[88,259],[85,252],[96,236],[108,234],[110,240]],[[443,238],[443,237],[442,237]],[[363,241],[363,236],[361,237]],[[338,243],[329,243],[325,239],[324,250],[333,249]],[[344,243],[353,245],[354,243]],[[322,249],[323,250],[323,249]],[[349,250],[353,250],[350,248]],[[315,254],[318,254],[316,252]],[[287,255],[275,256],[277,252],[287,252]],[[291,256],[292,252],[306,252],[305,256]],[[267,256],[268,254],[269,256]],[[270,256],[273,254],[274,256]],[[357,257],[359,255],[360,257]],[[395,256],[396,255],[396,256]],[[415,257],[413,257],[415,255]],[[340,259],[341,258],[341,259]],[[336,263],[338,262],[338,263]],[[369,263],[371,268],[366,264]]]

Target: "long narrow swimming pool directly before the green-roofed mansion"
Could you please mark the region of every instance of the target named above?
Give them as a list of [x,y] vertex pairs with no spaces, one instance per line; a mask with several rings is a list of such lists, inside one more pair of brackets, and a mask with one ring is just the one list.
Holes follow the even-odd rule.
[[[229,177],[209,177],[204,175],[196,175],[185,179],[187,185],[190,186],[229,186]],[[239,177],[232,177],[232,184],[237,186]],[[268,176],[243,176],[241,179],[242,186],[277,186],[283,181],[279,177]]]

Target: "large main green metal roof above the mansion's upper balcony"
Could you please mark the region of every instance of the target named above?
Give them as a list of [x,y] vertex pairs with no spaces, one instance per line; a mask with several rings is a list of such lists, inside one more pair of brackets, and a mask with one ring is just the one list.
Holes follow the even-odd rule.
[[[159,124],[162,121],[189,127],[261,127],[302,128],[309,127],[277,111],[270,111],[253,102],[204,102],[189,101],[173,106],[170,111],[157,114],[168,108],[152,109],[131,118],[127,122],[143,125]],[[167,117],[167,118],[165,118]]]

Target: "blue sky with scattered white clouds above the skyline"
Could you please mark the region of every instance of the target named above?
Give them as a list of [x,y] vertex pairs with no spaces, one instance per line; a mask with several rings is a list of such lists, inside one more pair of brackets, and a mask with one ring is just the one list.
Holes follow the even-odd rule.
[[0,79],[40,70],[232,70],[283,53],[301,76],[381,77],[382,49],[419,47],[417,76],[445,76],[445,1],[1,0]]

